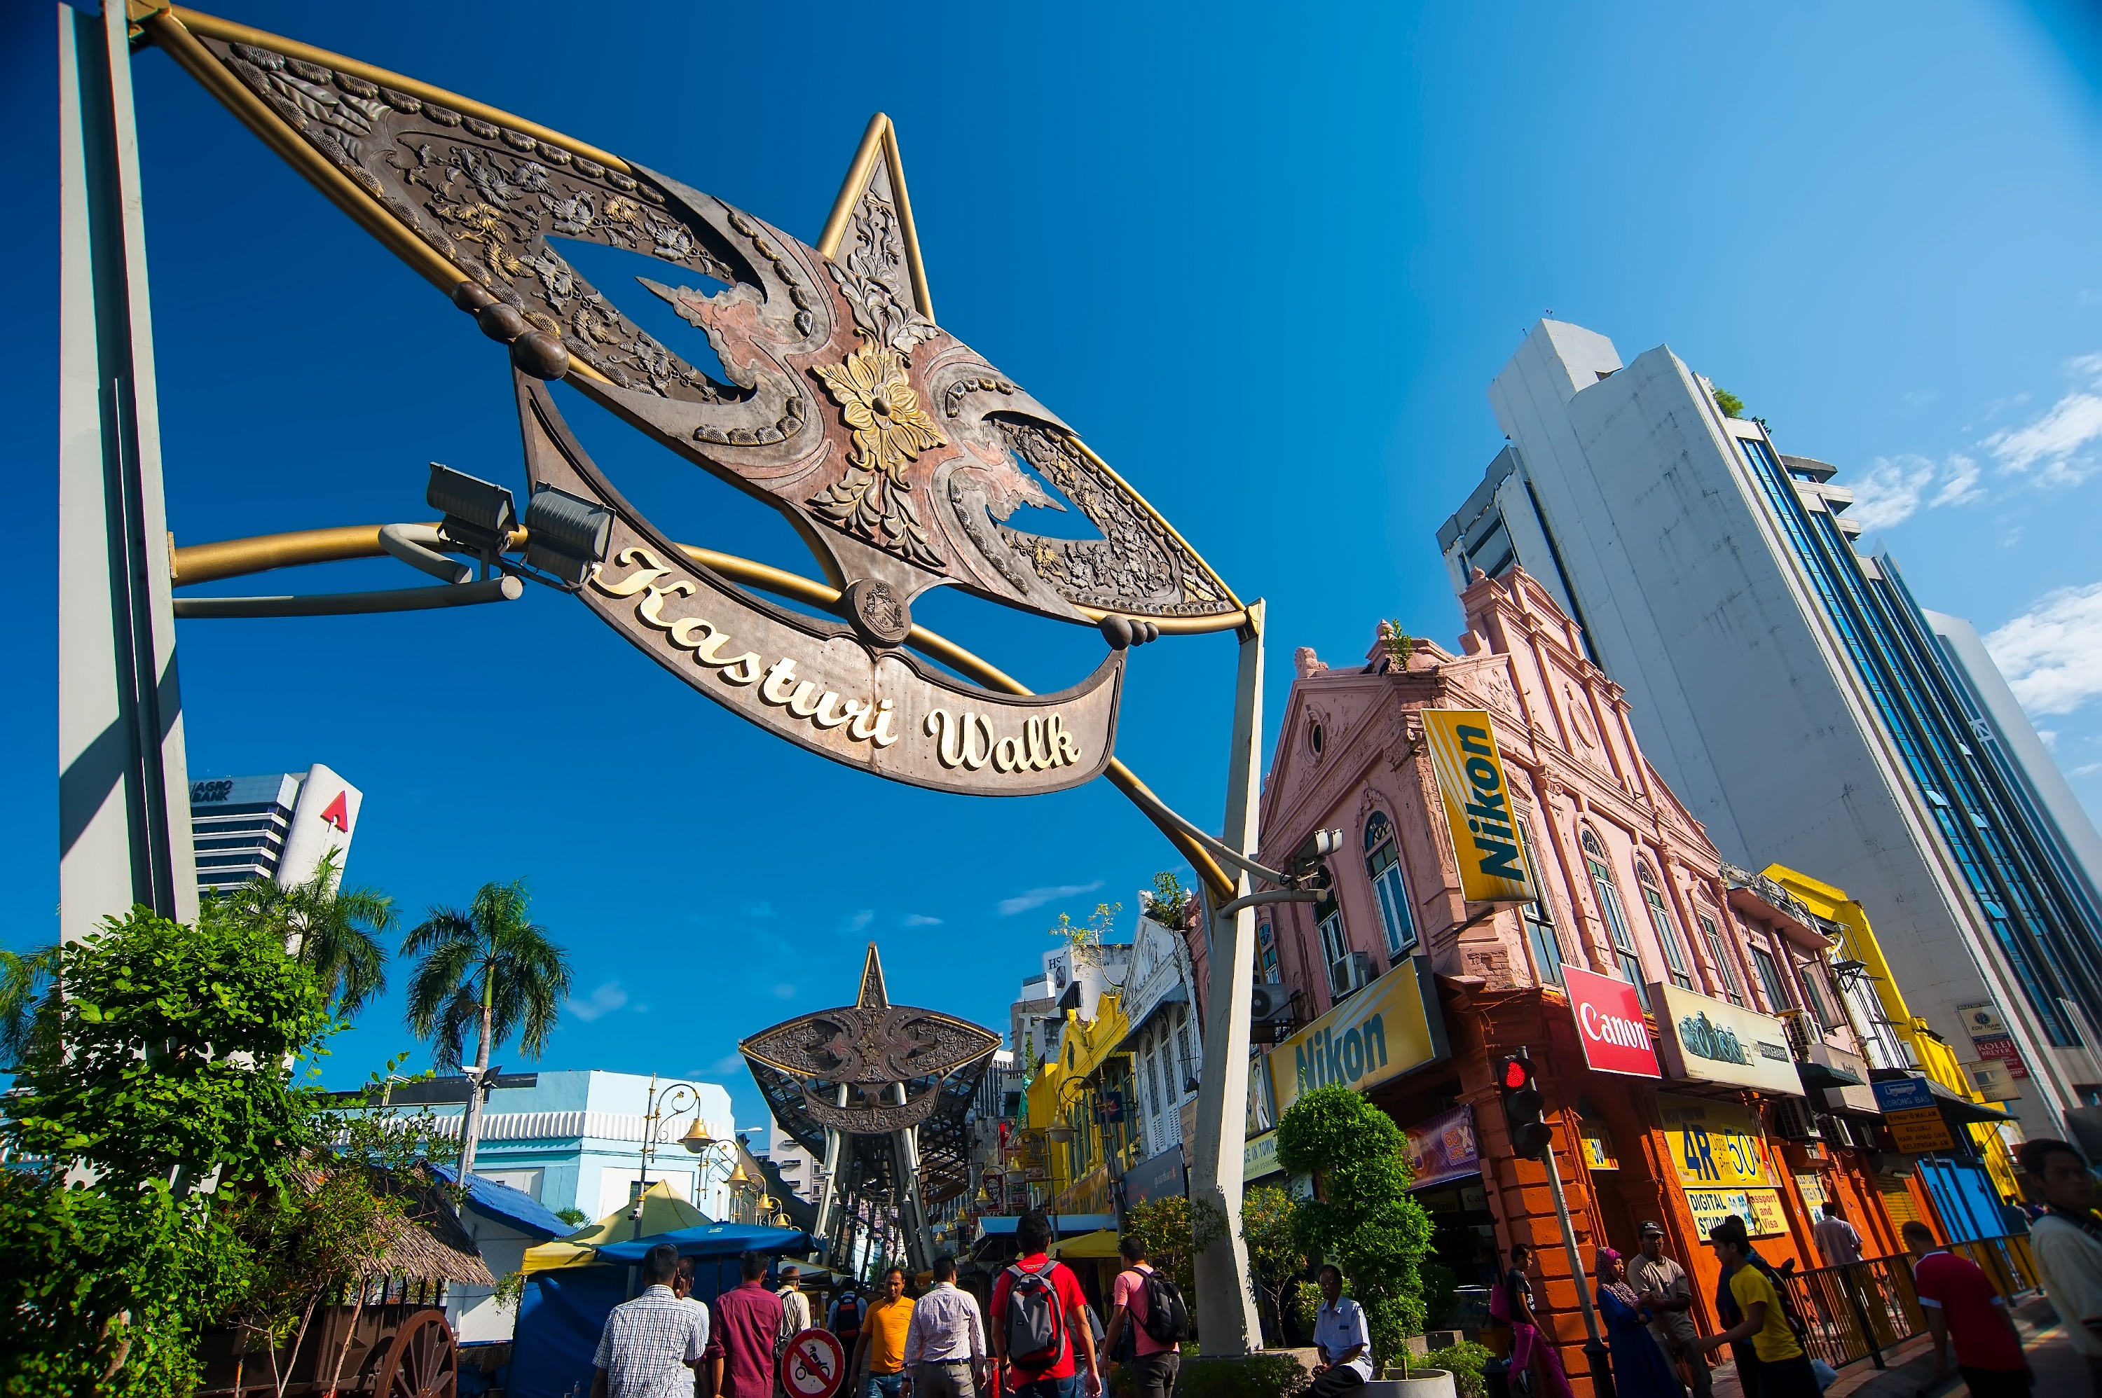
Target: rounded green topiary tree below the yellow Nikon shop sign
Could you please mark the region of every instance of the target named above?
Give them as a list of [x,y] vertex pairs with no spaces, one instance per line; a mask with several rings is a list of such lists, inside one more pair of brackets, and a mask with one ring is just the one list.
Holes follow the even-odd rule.
[[1343,1270],[1375,1362],[1406,1364],[1406,1337],[1423,1333],[1431,1219],[1408,1192],[1400,1127],[1347,1087],[1316,1087],[1278,1118],[1278,1163],[1320,1186],[1295,1213],[1299,1240]]

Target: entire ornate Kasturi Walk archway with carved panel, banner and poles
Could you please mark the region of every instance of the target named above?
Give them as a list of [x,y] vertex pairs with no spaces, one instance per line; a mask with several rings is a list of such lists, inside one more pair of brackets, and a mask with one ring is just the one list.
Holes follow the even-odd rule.
[[[118,883],[128,875],[141,902],[193,910],[172,618],[462,605],[549,582],[698,694],[832,761],[961,795],[1036,795],[1104,774],[1125,790],[1192,862],[1215,914],[1192,1179],[1238,1219],[1242,1144],[1230,1127],[1246,1091],[1253,908],[1312,898],[1305,860],[1286,870],[1253,860],[1263,603],[1242,603],[1062,416],[937,324],[889,120],[868,124],[822,233],[805,244],[612,151],[296,40],[162,0],[111,4],[99,19],[59,15],[67,919],[95,902],[76,893],[109,883],[111,870],[122,870]],[[504,488],[433,467],[429,502],[446,515],[435,528],[160,547],[132,42],[174,59],[509,349],[526,528]],[[660,275],[626,294],[660,299],[704,332],[723,378],[652,338],[572,267],[563,246],[576,242],[654,259]],[[553,381],[778,509],[822,578],[664,536],[582,450]],[[1097,538],[1028,528],[1032,511],[1062,509],[1038,477]],[[380,553],[441,584],[170,595]],[[481,580],[454,555],[477,559]],[[912,620],[933,587],[1097,626],[1108,654],[1072,687],[1030,694]],[[1125,650],[1209,631],[1240,639],[1223,839],[1171,811],[1116,759]],[[116,645],[90,637],[76,652],[65,643],[74,633]],[[103,711],[109,723],[97,727]],[[1276,887],[1251,893],[1253,879]],[[1238,1228],[1207,1249],[1198,1280],[1207,1348],[1249,1348],[1259,1331]]]

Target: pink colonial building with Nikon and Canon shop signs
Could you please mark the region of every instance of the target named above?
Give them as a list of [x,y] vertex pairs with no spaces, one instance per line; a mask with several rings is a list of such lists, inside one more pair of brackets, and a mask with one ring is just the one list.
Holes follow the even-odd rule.
[[[1867,1072],[1827,931],[1722,862],[1543,587],[1478,576],[1461,601],[1459,654],[1417,641],[1396,664],[1383,639],[1349,666],[1297,654],[1261,858],[1276,866],[1318,828],[1339,828],[1343,854],[1322,902],[1257,919],[1257,980],[1282,982],[1291,1013],[1257,1064],[1268,1072],[1251,1072],[1270,1087],[1251,1133],[1312,1087],[1364,1091],[1410,1135],[1438,1261],[1463,1284],[1490,1274],[1490,1249],[1541,1249],[1547,1329],[1585,1387],[1576,1278],[1545,1167],[1509,1154],[1499,1055],[1534,1062],[1587,1268],[1595,1245],[1633,1255],[1656,1219],[1715,1324],[1703,1236],[1724,1213],[1745,1215],[1774,1263],[1820,1266],[1822,1198],[1841,1200],[1867,1255],[1898,1245],[1864,1150],[1873,1127],[1848,1121],[1873,1102],[1852,1087]],[[1425,708],[1488,715],[1537,902],[1463,900]],[[1612,1017],[1619,1030],[1587,1041],[1585,1022]],[[1257,1135],[1251,1175],[1268,1158]]]

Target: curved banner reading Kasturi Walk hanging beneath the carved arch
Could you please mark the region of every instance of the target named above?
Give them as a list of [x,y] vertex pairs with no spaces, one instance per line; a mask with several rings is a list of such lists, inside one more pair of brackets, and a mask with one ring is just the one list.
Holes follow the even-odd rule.
[[687,557],[599,473],[538,383],[521,381],[519,418],[534,490],[614,515],[605,561],[578,597],[717,704],[849,767],[971,797],[1064,790],[1110,765],[1125,652],[1062,694],[950,679],[845,622],[759,601]]

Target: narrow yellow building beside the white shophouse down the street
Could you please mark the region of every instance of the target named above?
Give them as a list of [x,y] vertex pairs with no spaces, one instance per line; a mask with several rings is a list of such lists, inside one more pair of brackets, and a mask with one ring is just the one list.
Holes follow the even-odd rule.
[[1047,1137],[1051,1207],[1059,1213],[1114,1213],[1110,1165],[1133,1165],[1129,1123],[1137,1116],[1122,994],[1104,990],[1093,1020],[1066,1011],[1057,1053],[1028,1087],[1028,1129]]

